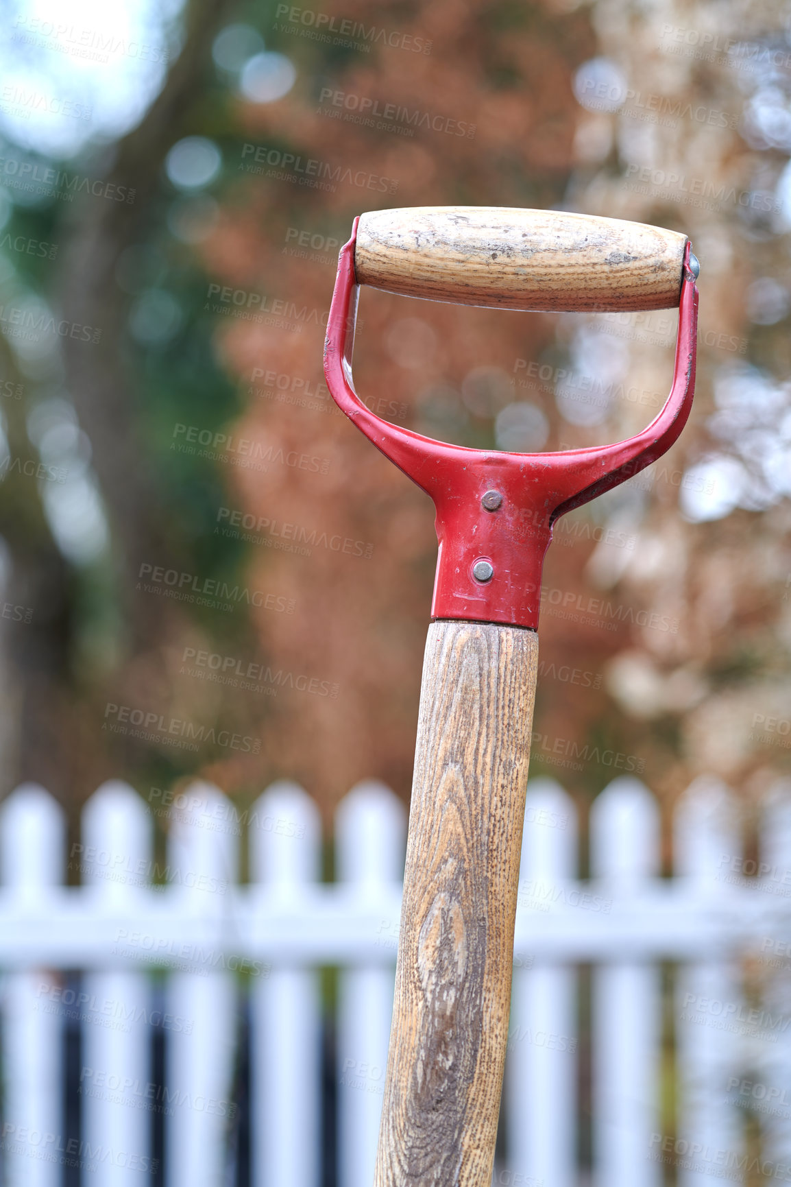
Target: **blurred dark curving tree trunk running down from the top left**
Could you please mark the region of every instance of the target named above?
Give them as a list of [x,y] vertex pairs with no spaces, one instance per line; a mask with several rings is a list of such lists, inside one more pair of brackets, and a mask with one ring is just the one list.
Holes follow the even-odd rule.
[[161,182],[165,157],[189,134],[192,101],[208,69],[211,43],[234,0],[191,0],[185,40],[164,89],[141,123],[120,141],[108,185],[134,190],[134,203],[87,196],[69,209],[57,284],[63,315],[70,322],[101,326],[95,347],[64,339],[66,385],[79,423],[94,450],[102,496],[109,513],[117,582],[134,652],[167,637],[172,604],[135,598],[142,563],[178,565],[178,541],[168,532],[135,406],[135,382],[126,350],[128,297],[116,281],[122,253],[142,240]]

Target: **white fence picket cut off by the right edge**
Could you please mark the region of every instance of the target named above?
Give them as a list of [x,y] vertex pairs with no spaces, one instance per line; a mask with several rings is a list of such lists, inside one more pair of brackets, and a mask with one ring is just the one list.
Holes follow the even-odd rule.
[[[759,887],[771,901],[791,899],[791,780],[776,783],[761,805]],[[777,1042],[764,1042],[749,1079],[729,1085],[732,1098],[760,1118],[765,1157],[774,1166],[791,1163],[791,927],[755,938],[763,983],[763,1007],[772,1018]]]

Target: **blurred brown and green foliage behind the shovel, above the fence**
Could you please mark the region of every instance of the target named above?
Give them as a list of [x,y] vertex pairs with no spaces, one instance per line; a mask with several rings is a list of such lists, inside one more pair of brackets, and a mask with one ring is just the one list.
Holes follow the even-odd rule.
[[[397,32],[398,45],[374,39],[370,49],[334,34],[302,36],[310,28],[283,21],[281,7],[192,0],[184,49],[139,127],[117,145],[58,165],[134,188],[135,202],[78,193],[74,202],[24,204],[17,195],[2,230],[4,245],[6,235],[58,245],[55,260],[0,246],[6,304],[40,298],[58,317],[102,329],[98,344],[66,338],[39,356],[20,353],[12,335],[2,343],[9,457],[38,464],[25,419],[51,414],[66,425],[71,458],[63,483],[13,469],[0,482],[5,596],[32,610],[28,623],[4,623],[7,786],[34,777],[78,802],[109,775],[147,794],[200,774],[247,802],[287,776],[302,781],[327,814],[365,776],[408,794],[433,512],[328,399],[323,318],[337,245],[355,215],[470,203],[566,207],[670,226],[690,234],[703,265],[698,394],[688,431],[652,468],[653,480],[639,476],[559,525],[546,569],[532,769],[585,799],[629,772],[666,798],[701,770],[745,792],[763,789],[787,770],[789,757],[787,735],[757,734],[752,724],[755,715],[791,716],[789,500],[765,491],[761,500],[755,480],[729,514],[696,522],[681,514],[680,494],[683,503],[685,491],[704,487],[709,480],[698,482],[694,468],[714,455],[749,468],[751,432],[755,450],[766,449],[747,421],[739,432],[728,421],[723,437],[721,420],[716,429],[712,419],[723,407],[715,405],[716,385],[738,364],[745,392],[763,375],[780,393],[772,414],[778,423],[787,417],[787,303],[774,320],[749,320],[749,300],[771,296],[754,287],[767,278],[787,293],[789,236],[782,220],[760,215],[760,203],[695,205],[683,185],[669,193],[650,180],[672,172],[734,195],[774,193],[791,142],[761,140],[760,76],[727,57],[708,63],[668,52],[663,28],[674,21],[708,28],[712,5],[693,6],[683,21],[670,5],[649,13],[614,0],[331,6],[338,20]],[[749,44],[780,36],[771,6],[720,6],[716,20],[723,36],[729,23]],[[294,64],[285,97],[244,99],[238,71],[215,64],[212,44],[229,23],[259,31],[268,51]],[[408,36],[430,42],[430,52],[403,47]],[[639,93],[613,110],[575,97],[580,68],[604,55]],[[771,84],[787,96],[789,71],[776,70]],[[440,115],[468,134],[333,118],[353,114],[343,100],[333,104],[337,93],[357,96],[351,108],[364,96]],[[640,94],[738,119],[728,128],[684,115],[649,120],[636,109]],[[173,146],[189,137],[206,138],[222,154],[222,169],[203,188],[179,188],[166,169]],[[280,166],[267,165],[267,154]],[[282,165],[285,154],[292,166]],[[42,170],[52,164],[26,155]],[[325,164],[337,180],[324,189],[301,184],[310,174],[296,159]],[[649,182],[638,185],[640,170]],[[13,189],[6,192],[14,198]],[[261,312],[273,306],[280,312]],[[536,447],[627,436],[668,391],[672,332],[640,318],[580,326],[579,318],[419,305],[366,291],[358,389],[382,398],[384,414],[400,423],[479,447],[496,444],[497,413],[522,401],[547,425],[546,445]],[[579,392],[563,402],[559,372],[574,376],[587,358],[585,367],[601,366],[606,382],[621,355],[623,379],[613,380],[606,415],[580,423],[568,402],[579,405]],[[17,385],[20,399],[8,395]],[[630,396],[630,385],[651,400]],[[69,408],[85,447],[68,429]],[[180,449],[187,427],[197,438],[192,452]],[[216,434],[232,437],[235,449],[200,444]],[[242,440],[269,462],[245,465]],[[285,461],[301,456],[319,461],[306,469]],[[60,497],[65,514],[79,519],[82,504],[66,502],[78,472],[98,491],[108,523],[107,546],[82,557],[68,548],[64,556],[45,506]],[[251,516],[244,523],[267,526],[245,540],[243,515]],[[312,538],[302,550],[310,554],[286,551],[283,532]],[[346,553],[320,542],[336,538],[351,541]],[[178,582],[189,575],[186,590],[218,582],[262,591],[274,608],[242,595],[232,610],[177,601],[165,596],[165,580],[147,592],[141,566],[148,575],[158,566],[176,572]],[[557,604],[553,591],[561,594]],[[561,612],[591,599],[599,610]],[[640,626],[649,621],[668,626]],[[218,659],[199,667],[200,652]],[[254,688],[244,686],[248,671],[256,673]],[[134,737],[132,724],[113,732],[108,726],[121,723],[108,705],[153,715],[143,726],[149,737]],[[194,749],[167,744],[172,722],[208,738]],[[221,730],[243,742],[221,744]]]

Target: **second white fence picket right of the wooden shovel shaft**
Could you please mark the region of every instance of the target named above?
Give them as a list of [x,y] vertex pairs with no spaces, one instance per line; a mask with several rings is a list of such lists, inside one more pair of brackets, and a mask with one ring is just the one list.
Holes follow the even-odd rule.
[[[615,779],[593,801],[591,874],[602,904],[659,872],[659,811],[637,779]],[[595,902],[597,900],[594,900]],[[593,1147],[600,1187],[655,1187],[661,983],[653,961],[601,964],[593,972]]]

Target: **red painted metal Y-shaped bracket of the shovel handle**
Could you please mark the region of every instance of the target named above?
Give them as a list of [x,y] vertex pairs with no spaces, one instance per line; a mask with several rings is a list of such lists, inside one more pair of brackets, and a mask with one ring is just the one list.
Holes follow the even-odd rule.
[[[359,286],[352,235],[340,250],[324,348],[324,372],[336,404],[398,469],[434,500],[439,556],[433,618],[502,622],[537,629],[541,571],[553,523],[574,507],[611,490],[656,462],[681,433],[695,391],[697,288],[687,243],[678,307],[672,387],[658,417],[642,433],[614,445],[556,453],[506,453],[466,449],[382,420],[352,386],[351,356]],[[487,490],[503,501],[481,506]],[[473,576],[478,560],[493,576]]]

